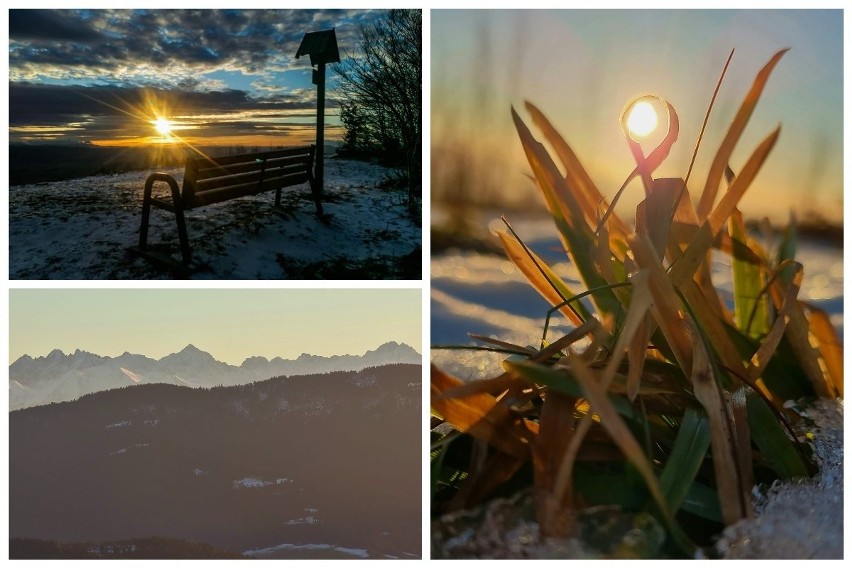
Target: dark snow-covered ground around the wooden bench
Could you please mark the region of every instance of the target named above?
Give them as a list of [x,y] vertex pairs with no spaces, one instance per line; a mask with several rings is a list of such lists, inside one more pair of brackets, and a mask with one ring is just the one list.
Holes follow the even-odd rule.
[[[182,180],[182,168],[164,171]],[[9,188],[10,278],[171,278],[168,270],[128,252],[138,242],[149,173]],[[367,266],[377,274],[391,271],[379,278],[395,278],[392,271],[401,262],[415,262],[408,255],[416,255],[419,267],[421,222],[408,214],[403,192],[378,187],[390,176],[391,170],[378,165],[327,160],[325,220],[317,218],[307,184],[285,188],[281,210],[267,192],[189,211],[198,266],[192,277],[357,279]],[[155,186],[158,191],[166,186]],[[173,215],[152,211],[149,243],[168,243],[177,253]]]

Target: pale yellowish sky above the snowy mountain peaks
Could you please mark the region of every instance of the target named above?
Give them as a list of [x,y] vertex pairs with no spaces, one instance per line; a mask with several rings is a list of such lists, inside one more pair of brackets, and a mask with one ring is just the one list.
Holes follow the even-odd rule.
[[235,365],[387,341],[422,352],[420,313],[419,289],[11,290],[9,359],[57,348],[160,358],[188,343]]

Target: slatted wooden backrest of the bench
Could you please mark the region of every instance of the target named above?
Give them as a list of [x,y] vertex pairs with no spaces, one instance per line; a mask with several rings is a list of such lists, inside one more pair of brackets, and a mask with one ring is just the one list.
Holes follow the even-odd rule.
[[187,208],[255,195],[313,179],[314,146],[220,158],[189,158],[181,199]]

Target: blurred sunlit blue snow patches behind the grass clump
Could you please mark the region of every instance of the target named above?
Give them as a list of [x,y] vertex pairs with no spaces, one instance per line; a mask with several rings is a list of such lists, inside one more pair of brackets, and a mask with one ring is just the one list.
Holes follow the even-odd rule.
[[[585,289],[576,269],[567,262],[550,218],[509,216],[509,221],[524,242],[566,283],[578,291]],[[484,215],[480,226],[505,229],[499,214]],[[805,267],[799,298],[826,310],[842,341],[843,250],[802,239],[797,258]],[[505,257],[449,250],[432,256],[430,271],[433,363],[463,379],[501,372],[503,356],[434,349],[439,345],[481,345],[469,337],[471,333],[519,345],[539,345],[550,305]],[[713,266],[713,280],[723,295],[732,297],[730,265],[721,255]],[[566,324],[567,319],[557,315],[551,318],[550,329],[564,334],[570,329]],[[548,339],[559,337],[557,333],[549,334]]]

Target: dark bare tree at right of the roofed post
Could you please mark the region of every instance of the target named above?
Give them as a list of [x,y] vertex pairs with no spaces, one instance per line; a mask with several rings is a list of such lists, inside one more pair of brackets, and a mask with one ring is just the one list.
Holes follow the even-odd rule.
[[404,164],[409,205],[422,184],[421,30],[420,10],[388,10],[361,29],[359,53],[333,66],[340,78],[345,144]]

